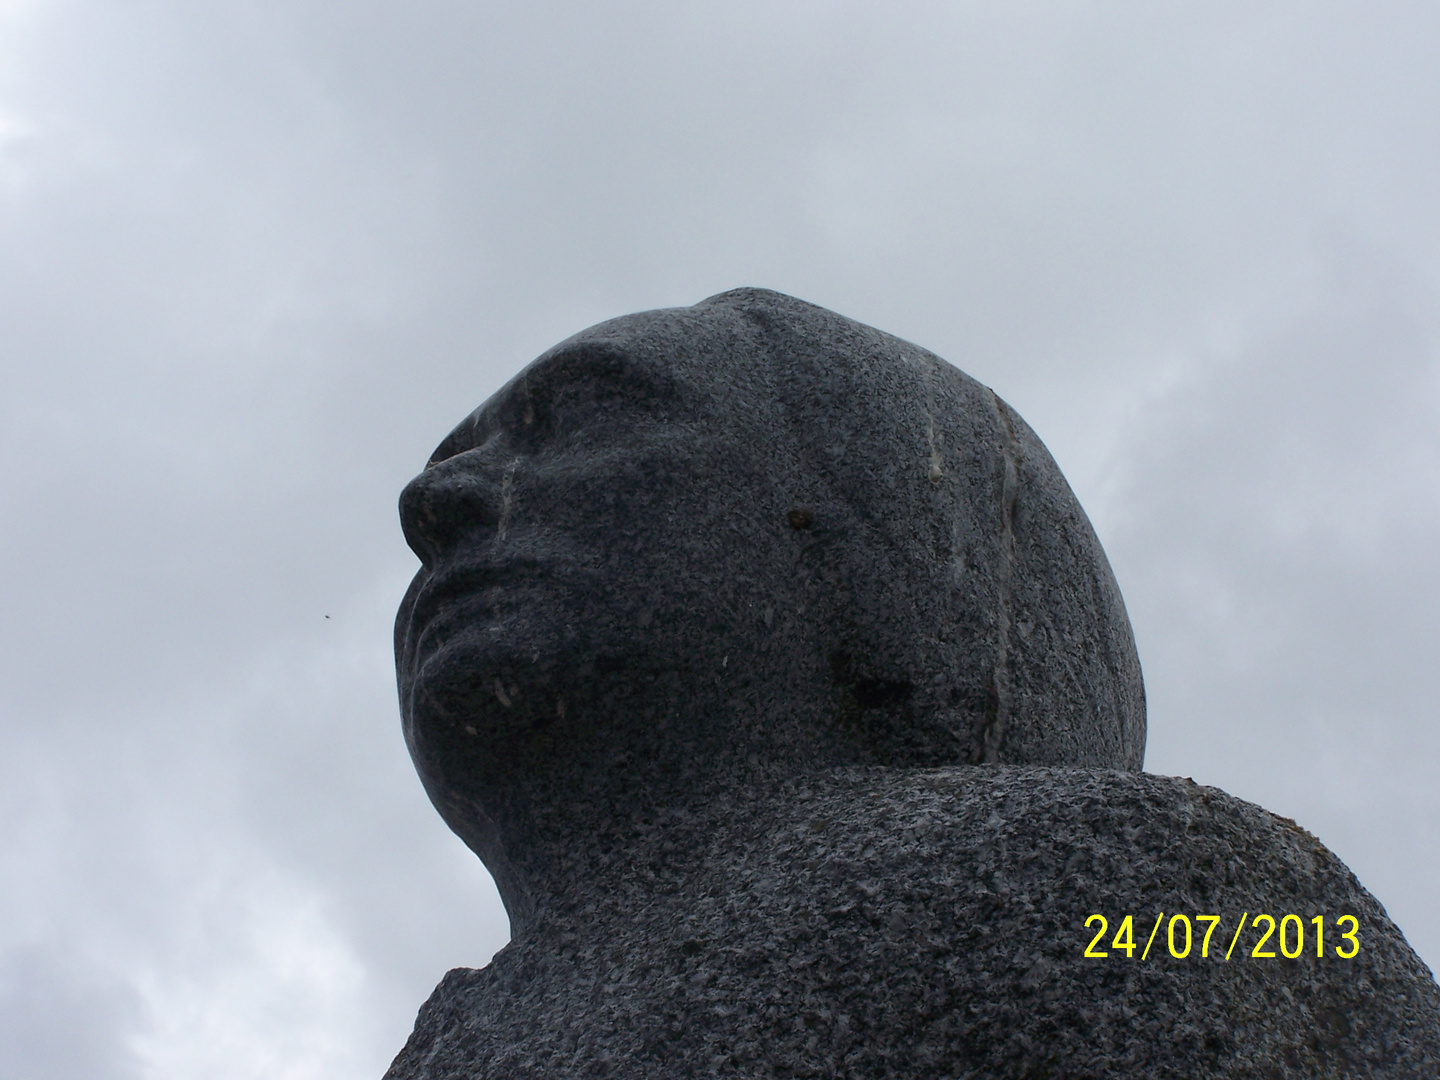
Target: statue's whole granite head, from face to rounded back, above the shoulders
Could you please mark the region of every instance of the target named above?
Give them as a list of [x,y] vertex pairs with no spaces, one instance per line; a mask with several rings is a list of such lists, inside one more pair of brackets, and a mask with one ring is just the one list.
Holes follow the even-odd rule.
[[616,783],[1140,768],[1125,606],[1040,439],[936,356],[791,297],[560,343],[400,516],[423,563],[396,621],[406,740],[482,857],[505,819]]

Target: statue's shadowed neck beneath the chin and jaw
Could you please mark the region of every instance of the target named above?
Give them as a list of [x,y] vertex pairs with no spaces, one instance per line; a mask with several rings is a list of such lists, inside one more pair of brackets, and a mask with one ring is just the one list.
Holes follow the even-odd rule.
[[671,721],[628,714],[547,729],[510,759],[445,776],[418,759],[446,822],[485,863],[521,937],[580,919],[622,917],[691,891],[706,851],[775,818],[801,778],[854,759],[808,713],[740,717],[674,706]]

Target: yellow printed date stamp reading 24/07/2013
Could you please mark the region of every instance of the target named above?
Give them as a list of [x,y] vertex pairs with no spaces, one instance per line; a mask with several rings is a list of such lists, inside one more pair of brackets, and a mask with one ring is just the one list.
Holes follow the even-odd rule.
[[[1155,924],[1151,927],[1151,936],[1145,942],[1145,948],[1140,952],[1140,959],[1146,959],[1151,955],[1151,949],[1155,946],[1155,939],[1161,936],[1161,926],[1165,927],[1162,936],[1162,943],[1165,952],[1171,955],[1172,959],[1184,960],[1197,952],[1202,959],[1220,959],[1220,948],[1224,945],[1224,939],[1230,937],[1230,946],[1224,952],[1224,959],[1228,960],[1236,953],[1236,946],[1240,946],[1240,958],[1250,958],[1257,960],[1272,960],[1277,958],[1284,958],[1287,960],[1297,960],[1302,956],[1313,955],[1316,958],[1325,958],[1326,952],[1326,930],[1325,930],[1326,916],[1316,914],[1310,919],[1302,919],[1297,914],[1283,914],[1279,922],[1273,914],[1260,913],[1251,917],[1248,912],[1241,913],[1238,922],[1236,922],[1236,930],[1227,935],[1221,930],[1221,936],[1215,940],[1215,953],[1211,955],[1211,937],[1215,930],[1224,924],[1224,919],[1218,914],[1171,914],[1169,922],[1164,912],[1155,916]],[[1246,929],[1250,929],[1250,935],[1246,935]],[[1346,929],[1348,924],[1348,929]],[[1115,937],[1110,935],[1110,920],[1103,914],[1092,914],[1084,920],[1086,930],[1094,930],[1094,936],[1084,949],[1084,956],[1089,959],[1103,960],[1109,956],[1125,955],[1125,959],[1133,960],[1135,950],[1140,948],[1135,939],[1135,916],[1128,914],[1120,919],[1119,926],[1115,930]],[[1354,959],[1359,955],[1359,919],[1352,914],[1342,914],[1332,922],[1335,927],[1329,933],[1328,942],[1332,956],[1338,956],[1342,960]],[[1099,927],[1099,929],[1096,929]],[[1309,927],[1309,933],[1306,933]],[[1204,936],[1201,936],[1201,929],[1204,929]],[[1241,937],[1244,935],[1244,937]],[[1109,940],[1107,940],[1109,939]],[[1279,949],[1279,952],[1276,952]],[[1156,949],[1156,956],[1161,956]]]

